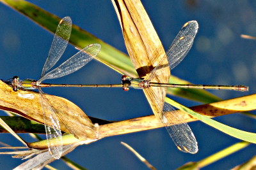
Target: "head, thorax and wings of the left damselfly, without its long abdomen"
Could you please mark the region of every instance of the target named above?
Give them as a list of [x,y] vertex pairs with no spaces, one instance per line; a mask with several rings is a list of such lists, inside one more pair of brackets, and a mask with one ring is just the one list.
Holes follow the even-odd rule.
[[[100,52],[101,48],[99,44],[88,45],[83,48],[83,50],[80,50],[75,55],[70,57],[70,59],[63,62],[60,66],[52,69],[52,71],[49,71],[49,69],[51,69],[56,64],[56,62],[58,62],[61,55],[65,51],[68,40],[70,38],[71,30],[71,18],[65,17],[61,19],[56,29],[49,55],[47,57],[47,60],[45,61],[39,80],[35,81],[31,79],[26,79],[22,81],[19,80],[18,76],[14,76],[12,80],[6,81],[6,83],[10,83],[12,85],[14,91],[18,91],[19,89],[38,89],[40,94],[42,112],[44,113],[44,125],[49,152],[55,159],[60,159],[62,154],[63,145],[60,129],[61,120],[58,112],[54,110],[54,107],[48,101],[47,97],[44,95],[44,92],[42,92],[41,87],[44,86],[41,82],[47,79],[60,78],[61,76],[65,76],[67,74],[73,73],[74,71],[77,71],[85,64],[90,62],[90,60],[92,60],[93,57],[95,57]],[[47,71],[49,72],[47,73]],[[49,114],[49,118],[51,121],[49,121],[45,114]],[[72,133],[72,129],[68,129],[68,131]],[[74,135],[76,136],[76,134]]]

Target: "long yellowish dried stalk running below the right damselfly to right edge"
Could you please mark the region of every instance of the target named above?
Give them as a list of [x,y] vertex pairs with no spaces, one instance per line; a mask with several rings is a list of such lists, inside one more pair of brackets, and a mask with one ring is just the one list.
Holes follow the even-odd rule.
[[[234,105],[236,109],[234,109],[232,105]],[[228,99],[226,101],[193,106],[193,107],[190,107],[190,109],[200,113],[201,115],[205,115],[207,117],[217,117],[221,115],[237,113],[240,111],[255,110],[255,106],[256,106],[256,94],[253,94],[250,96],[243,96],[243,97],[237,97],[234,99]],[[177,110],[177,111],[184,118],[184,120],[186,120],[186,122],[198,120],[196,118],[191,117],[191,115],[188,115],[188,113],[184,111],[181,111],[181,110]],[[115,122],[112,124],[100,125],[99,135],[100,135],[100,138],[104,138],[108,136],[127,134],[131,132],[139,132],[139,131],[146,131],[149,129],[156,129],[163,126],[164,124],[157,121],[154,115],[150,115],[146,117],[132,118],[129,120]]]

